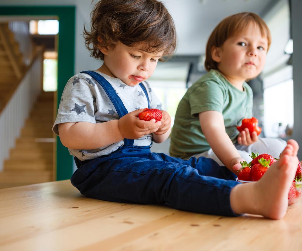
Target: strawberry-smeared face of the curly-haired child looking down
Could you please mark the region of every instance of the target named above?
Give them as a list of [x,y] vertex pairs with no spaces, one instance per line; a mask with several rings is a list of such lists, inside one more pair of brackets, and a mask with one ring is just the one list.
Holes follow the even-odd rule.
[[108,70],[104,73],[119,78],[130,86],[148,79],[153,74],[163,52],[149,53],[144,52],[143,48],[143,44],[129,47],[118,42],[114,48],[102,50],[104,65]]

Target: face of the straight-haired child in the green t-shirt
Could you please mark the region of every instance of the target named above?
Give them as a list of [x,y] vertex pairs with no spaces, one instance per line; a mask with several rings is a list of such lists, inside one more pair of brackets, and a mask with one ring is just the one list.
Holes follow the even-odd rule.
[[228,38],[216,51],[218,69],[229,79],[245,81],[263,70],[267,53],[267,38],[257,25],[250,23],[244,31]]

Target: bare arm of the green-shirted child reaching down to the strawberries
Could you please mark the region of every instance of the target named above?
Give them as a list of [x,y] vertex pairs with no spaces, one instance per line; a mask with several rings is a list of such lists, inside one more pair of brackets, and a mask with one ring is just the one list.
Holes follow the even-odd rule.
[[239,162],[244,159],[241,158],[230,137],[225,132],[222,114],[217,111],[201,112],[199,113],[199,121],[204,136],[218,159],[229,170],[237,174],[238,172],[235,170],[241,167]]

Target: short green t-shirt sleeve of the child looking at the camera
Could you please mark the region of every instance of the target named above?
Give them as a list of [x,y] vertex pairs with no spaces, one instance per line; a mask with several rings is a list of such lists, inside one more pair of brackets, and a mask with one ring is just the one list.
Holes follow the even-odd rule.
[[191,116],[197,117],[200,112],[223,111],[224,88],[215,81],[206,81],[197,85],[189,94]]

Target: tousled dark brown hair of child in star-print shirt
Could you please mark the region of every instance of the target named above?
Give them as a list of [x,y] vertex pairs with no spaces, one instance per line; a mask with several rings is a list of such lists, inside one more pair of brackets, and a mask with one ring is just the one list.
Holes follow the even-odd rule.
[[127,46],[146,43],[144,51],[163,50],[160,61],[172,56],[176,49],[173,19],[163,3],[156,0],[101,0],[91,12],[91,30],[84,25],[85,45],[91,56],[104,59],[99,48],[118,41]]

